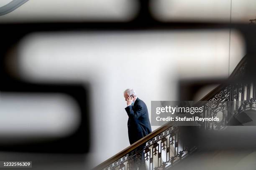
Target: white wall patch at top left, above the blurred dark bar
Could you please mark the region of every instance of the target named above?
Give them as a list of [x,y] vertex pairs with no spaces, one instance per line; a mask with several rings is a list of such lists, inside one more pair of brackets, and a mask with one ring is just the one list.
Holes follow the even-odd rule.
[[[10,1],[1,0],[0,7]],[[0,23],[128,21],[137,12],[136,0],[28,0],[11,13],[2,15]]]

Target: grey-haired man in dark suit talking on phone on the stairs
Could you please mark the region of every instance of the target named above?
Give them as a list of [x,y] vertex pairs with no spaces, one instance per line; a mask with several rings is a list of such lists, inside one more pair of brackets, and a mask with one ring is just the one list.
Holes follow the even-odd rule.
[[[125,111],[128,115],[128,137],[132,145],[144,136],[152,132],[148,117],[146,104],[137,97],[133,89],[126,89],[123,93],[127,107]],[[138,162],[135,160],[135,162]],[[141,152],[140,165],[135,165],[134,169],[145,169],[144,152]]]

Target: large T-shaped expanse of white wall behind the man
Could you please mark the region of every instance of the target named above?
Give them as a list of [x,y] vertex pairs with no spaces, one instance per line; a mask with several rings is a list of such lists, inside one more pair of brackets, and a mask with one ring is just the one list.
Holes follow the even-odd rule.
[[[238,33],[232,36],[238,42],[232,54],[242,54],[243,40]],[[233,60],[229,30],[40,32],[23,39],[19,55],[25,80],[90,83],[91,166],[129,145],[126,88],[136,90],[151,114],[151,100],[177,100],[180,78],[228,77]]]

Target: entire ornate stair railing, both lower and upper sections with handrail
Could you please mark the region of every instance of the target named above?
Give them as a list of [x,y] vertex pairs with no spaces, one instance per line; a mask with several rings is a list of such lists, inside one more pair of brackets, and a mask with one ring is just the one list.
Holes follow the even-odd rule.
[[[246,57],[239,62],[230,75],[230,80],[242,76],[245,67]],[[224,129],[234,115],[253,107],[251,103],[256,103],[255,96],[255,83],[230,83],[228,81],[228,83],[219,85],[202,98],[203,101],[208,102],[203,105],[204,112],[198,116],[218,117],[221,115],[222,119],[219,122],[198,122],[202,125],[200,127],[204,127],[205,130]],[[254,107],[256,109],[256,106]],[[186,141],[182,141],[180,133],[179,127],[167,123],[94,169],[130,170],[135,168],[135,164],[140,164],[143,157],[149,170],[170,168],[197,149],[195,146],[188,145]]]

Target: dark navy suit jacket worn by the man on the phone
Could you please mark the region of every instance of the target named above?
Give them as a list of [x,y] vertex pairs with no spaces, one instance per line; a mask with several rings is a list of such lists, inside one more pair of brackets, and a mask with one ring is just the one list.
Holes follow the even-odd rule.
[[148,108],[146,104],[138,97],[133,107],[125,107],[128,119],[128,136],[130,144],[135,143],[144,136],[151,133],[151,125],[148,117]]

